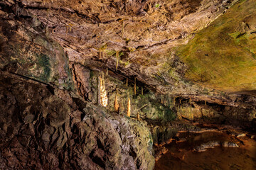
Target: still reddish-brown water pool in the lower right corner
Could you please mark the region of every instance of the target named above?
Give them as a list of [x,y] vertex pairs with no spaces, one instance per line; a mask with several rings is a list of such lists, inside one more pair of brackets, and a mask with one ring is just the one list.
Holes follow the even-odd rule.
[[178,138],[165,146],[168,151],[156,161],[155,170],[256,170],[256,142],[250,136],[186,132]]

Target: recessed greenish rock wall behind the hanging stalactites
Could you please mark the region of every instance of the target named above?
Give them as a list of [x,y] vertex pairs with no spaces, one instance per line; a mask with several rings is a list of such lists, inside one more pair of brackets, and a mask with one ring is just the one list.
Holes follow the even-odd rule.
[[[108,98],[107,110],[116,111],[114,106],[115,102],[117,102],[117,113],[127,115],[127,101],[130,98],[131,116],[133,118],[137,118],[138,114],[142,119],[152,120],[174,120],[176,117],[174,111],[171,109],[172,98],[164,98],[163,95],[154,93],[150,89],[147,89],[145,84],[137,82],[137,94],[134,94],[134,80],[124,79],[124,81],[120,81],[117,78],[107,75],[106,70],[104,72],[96,72],[80,64],[73,64],[72,67],[78,93],[87,101],[95,104],[98,102],[98,81],[103,75]],[[126,84],[126,81],[128,81],[128,84]],[[143,87],[144,92],[142,94]]]

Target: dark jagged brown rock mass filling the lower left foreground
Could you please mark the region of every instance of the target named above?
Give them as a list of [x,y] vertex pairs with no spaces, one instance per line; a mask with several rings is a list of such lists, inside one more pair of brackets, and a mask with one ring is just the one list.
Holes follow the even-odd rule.
[[1,72],[1,169],[153,169],[145,122]]

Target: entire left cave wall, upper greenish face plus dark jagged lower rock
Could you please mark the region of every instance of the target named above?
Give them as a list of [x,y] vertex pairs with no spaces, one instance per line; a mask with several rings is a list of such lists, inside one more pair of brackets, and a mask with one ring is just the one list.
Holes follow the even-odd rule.
[[81,89],[75,89],[63,47],[30,13],[5,7],[1,4],[1,168],[153,169],[146,123],[110,114],[75,94]]

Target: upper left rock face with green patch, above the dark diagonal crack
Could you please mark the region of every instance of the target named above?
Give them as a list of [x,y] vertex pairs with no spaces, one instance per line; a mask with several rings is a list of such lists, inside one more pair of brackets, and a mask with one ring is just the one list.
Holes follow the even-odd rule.
[[48,37],[46,26],[20,8],[16,16],[1,12],[0,69],[59,88],[73,89],[68,56]]

